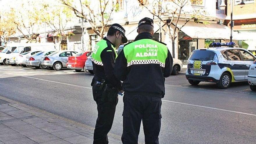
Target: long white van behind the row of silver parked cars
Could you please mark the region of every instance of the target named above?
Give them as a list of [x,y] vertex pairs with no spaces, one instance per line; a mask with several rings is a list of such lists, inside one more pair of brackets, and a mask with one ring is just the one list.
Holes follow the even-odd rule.
[[[10,58],[17,57],[19,54],[22,54],[24,52],[28,51],[52,51],[55,49],[55,44],[53,42],[47,42],[47,43],[19,43],[17,48],[11,53],[7,54],[6,63],[8,64],[8,61]],[[5,64],[5,63],[4,63]]]

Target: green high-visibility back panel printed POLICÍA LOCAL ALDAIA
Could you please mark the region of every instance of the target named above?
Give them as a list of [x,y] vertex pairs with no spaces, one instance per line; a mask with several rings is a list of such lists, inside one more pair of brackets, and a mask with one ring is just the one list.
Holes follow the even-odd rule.
[[126,45],[123,49],[127,67],[136,64],[156,63],[165,66],[168,54],[166,45],[152,39],[142,39]]

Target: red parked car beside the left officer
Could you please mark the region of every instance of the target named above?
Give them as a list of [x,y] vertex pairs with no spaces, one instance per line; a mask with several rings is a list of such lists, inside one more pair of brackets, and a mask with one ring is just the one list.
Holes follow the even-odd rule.
[[67,58],[67,68],[80,72],[83,70],[84,63],[90,54],[92,54],[92,51],[83,51],[77,53],[75,56],[69,56]]

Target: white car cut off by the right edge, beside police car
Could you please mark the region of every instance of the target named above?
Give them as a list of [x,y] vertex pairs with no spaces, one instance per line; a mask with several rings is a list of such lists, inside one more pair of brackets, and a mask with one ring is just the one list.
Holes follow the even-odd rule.
[[256,91],[256,60],[250,66],[248,83],[250,84],[251,90]]

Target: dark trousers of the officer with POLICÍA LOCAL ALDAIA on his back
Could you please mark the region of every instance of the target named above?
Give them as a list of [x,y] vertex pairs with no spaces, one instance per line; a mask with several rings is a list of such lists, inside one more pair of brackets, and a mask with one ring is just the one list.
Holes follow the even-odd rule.
[[145,144],[159,144],[161,97],[154,94],[125,93],[123,111],[123,144],[137,144],[141,120]]

